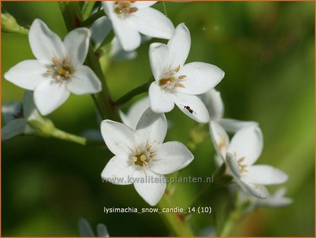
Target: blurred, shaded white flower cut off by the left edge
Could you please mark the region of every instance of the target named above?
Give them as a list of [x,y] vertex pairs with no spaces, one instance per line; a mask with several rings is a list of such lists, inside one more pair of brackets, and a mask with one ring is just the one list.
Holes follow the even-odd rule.
[[31,91],[25,91],[23,104],[6,103],[1,107],[1,111],[6,123],[1,129],[1,140],[8,140],[17,135],[32,134],[35,130],[28,125],[28,120],[41,118],[35,108]]

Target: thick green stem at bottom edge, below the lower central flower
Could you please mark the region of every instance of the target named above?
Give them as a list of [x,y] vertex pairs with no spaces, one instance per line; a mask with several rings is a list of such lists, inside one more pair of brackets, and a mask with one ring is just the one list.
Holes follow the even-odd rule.
[[[160,208],[160,212],[163,208],[175,208],[172,205],[168,191],[165,192],[163,198],[159,201],[158,207]],[[185,220],[182,214],[162,212],[161,215],[163,216],[163,221],[165,221],[175,237],[194,237],[191,227],[189,227],[187,220]]]

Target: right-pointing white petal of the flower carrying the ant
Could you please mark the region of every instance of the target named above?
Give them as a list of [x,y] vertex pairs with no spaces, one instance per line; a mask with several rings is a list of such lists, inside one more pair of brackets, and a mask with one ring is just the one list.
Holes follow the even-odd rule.
[[185,75],[181,80],[184,88],[178,87],[177,91],[185,94],[204,94],[213,89],[224,77],[224,72],[213,64],[192,62],[185,64],[180,69],[179,75]]

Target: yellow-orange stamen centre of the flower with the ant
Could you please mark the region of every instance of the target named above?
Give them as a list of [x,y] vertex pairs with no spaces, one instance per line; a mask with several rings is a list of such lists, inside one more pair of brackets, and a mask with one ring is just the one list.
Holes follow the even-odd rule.
[[168,74],[166,74],[166,77],[163,77],[163,79],[160,79],[158,81],[159,86],[165,90],[172,90],[176,87],[185,88],[185,86],[181,84],[180,81],[182,81],[182,79],[185,79],[187,75],[176,76],[175,74],[177,74],[177,72],[179,71],[180,65],[175,69],[169,70]]

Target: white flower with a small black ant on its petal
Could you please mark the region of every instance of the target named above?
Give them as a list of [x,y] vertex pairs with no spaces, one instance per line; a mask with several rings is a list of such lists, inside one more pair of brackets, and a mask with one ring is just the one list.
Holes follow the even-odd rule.
[[177,26],[168,45],[151,44],[149,59],[155,78],[149,87],[151,109],[167,113],[176,104],[190,118],[208,123],[209,113],[197,95],[213,89],[223,79],[224,72],[203,62],[185,64],[190,45],[191,37],[184,23]]

